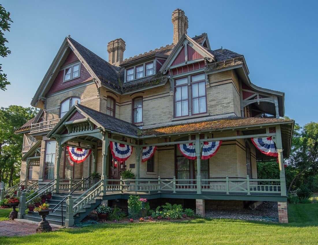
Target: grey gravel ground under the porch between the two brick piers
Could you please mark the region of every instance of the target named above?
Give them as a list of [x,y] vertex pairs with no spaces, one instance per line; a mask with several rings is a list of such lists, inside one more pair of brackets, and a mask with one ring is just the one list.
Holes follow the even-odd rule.
[[251,216],[278,217],[277,202],[263,202],[254,210],[250,208],[244,208],[243,210],[205,209],[205,218],[268,221],[260,218],[252,218]]

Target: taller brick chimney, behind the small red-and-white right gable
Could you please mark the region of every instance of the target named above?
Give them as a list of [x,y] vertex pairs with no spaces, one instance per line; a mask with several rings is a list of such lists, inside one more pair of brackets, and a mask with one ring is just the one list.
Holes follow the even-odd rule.
[[185,33],[187,34],[188,29],[188,17],[184,15],[184,11],[176,9],[172,12],[171,22],[173,24],[173,44],[177,44]]

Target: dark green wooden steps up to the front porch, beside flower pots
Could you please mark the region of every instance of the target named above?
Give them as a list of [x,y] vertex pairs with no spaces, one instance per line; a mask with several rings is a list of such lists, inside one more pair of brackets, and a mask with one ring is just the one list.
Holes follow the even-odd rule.
[[[62,199],[64,199],[69,193],[67,192],[60,192],[60,193],[53,193],[51,199],[47,199],[45,203],[50,204],[50,208],[55,207]],[[72,193],[72,199],[75,200],[81,194],[80,193]],[[50,212],[46,215],[46,220],[52,224],[62,225],[62,218],[63,217],[63,224],[65,222],[65,214],[66,214],[66,199],[63,201],[63,213],[61,210],[61,205],[56,209],[54,213]],[[76,202],[78,203],[78,202]],[[100,205],[101,199],[95,199],[90,202],[83,210],[77,213],[74,216],[74,223],[82,221],[94,208]],[[74,202],[75,204],[75,202]],[[27,214],[23,215],[23,219],[30,220],[30,221],[37,221],[40,222],[42,220],[41,216],[38,215],[37,212],[26,211]]]

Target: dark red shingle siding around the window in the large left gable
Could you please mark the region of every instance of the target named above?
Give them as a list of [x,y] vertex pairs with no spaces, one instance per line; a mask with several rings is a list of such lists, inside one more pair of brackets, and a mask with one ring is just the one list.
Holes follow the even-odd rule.
[[[62,66],[66,66],[66,65],[71,64],[71,63],[76,62],[76,61],[78,61],[76,55],[73,52],[71,52],[67,56],[67,58]],[[53,84],[52,84],[52,86],[47,94],[52,94],[52,93],[64,90],[66,88],[73,87],[73,86],[78,85],[82,82],[86,82],[86,81],[89,81],[92,79],[91,75],[85,69],[83,64],[80,64],[80,76],[79,76],[79,78],[75,78],[71,81],[63,82],[63,76],[64,76],[64,70],[59,71],[58,75],[56,76],[56,78],[55,78],[55,80],[54,80],[54,82],[53,82]]]

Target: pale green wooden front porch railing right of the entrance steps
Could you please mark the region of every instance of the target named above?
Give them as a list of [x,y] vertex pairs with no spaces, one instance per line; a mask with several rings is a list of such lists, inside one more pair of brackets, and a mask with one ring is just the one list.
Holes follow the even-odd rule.
[[[105,192],[198,192],[197,179],[106,179]],[[208,194],[269,194],[286,195],[281,190],[279,179],[250,179],[247,178],[210,178],[201,180],[201,192]],[[284,194],[285,193],[285,194]]]

